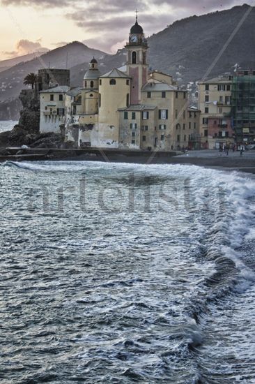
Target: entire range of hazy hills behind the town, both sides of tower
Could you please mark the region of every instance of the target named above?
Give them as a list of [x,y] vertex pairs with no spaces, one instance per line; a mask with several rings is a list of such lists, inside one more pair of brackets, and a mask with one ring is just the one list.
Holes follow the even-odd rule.
[[[233,39],[226,46],[212,71],[207,73],[248,10],[249,14]],[[176,21],[148,38],[150,47],[148,63],[150,68],[170,73],[180,84],[201,80],[206,73],[208,77],[214,77],[231,72],[237,63],[242,68],[255,68],[254,24],[255,7],[251,8],[247,4]],[[84,73],[88,69],[88,62],[93,56],[98,59],[102,73],[125,63],[125,49],[119,50],[114,55],[107,55],[105,52],[92,50],[82,43],[71,43],[42,55],[42,61],[33,59],[1,72],[0,101],[17,97],[26,73],[38,71],[43,64],[66,68],[68,62],[72,86],[81,85]]]

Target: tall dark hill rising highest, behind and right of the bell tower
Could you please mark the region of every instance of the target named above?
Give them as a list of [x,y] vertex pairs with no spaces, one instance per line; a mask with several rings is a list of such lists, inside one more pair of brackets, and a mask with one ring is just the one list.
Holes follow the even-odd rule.
[[[201,80],[249,9],[244,4],[230,10],[187,17],[150,36],[150,68],[170,73],[180,84]],[[242,68],[255,68],[255,50],[251,49],[255,47],[254,24],[255,7],[252,7],[208,77],[231,72],[237,63]],[[107,72],[113,66],[121,66],[123,62],[125,49],[100,61],[101,71]],[[85,63],[71,69],[71,79],[75,85],[82,84],[84,69]]]

